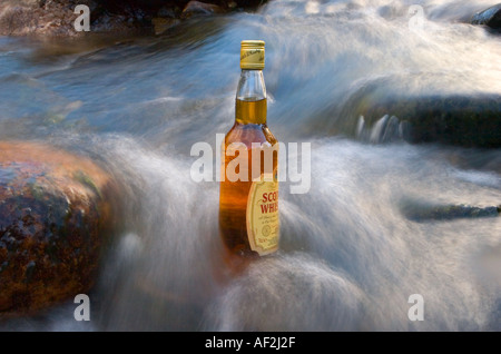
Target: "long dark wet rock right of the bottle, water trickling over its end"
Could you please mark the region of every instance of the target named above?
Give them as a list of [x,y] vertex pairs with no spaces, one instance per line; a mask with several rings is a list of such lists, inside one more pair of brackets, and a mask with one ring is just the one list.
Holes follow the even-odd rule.
[[[348,135],[356,136],[361,130],[376,132],[382,118],[394,116],[401,128],[405,127],[403,138],[412,144],[501,147],[499,95],[390,96],[384,90],[367,87],[356,92],[344,107],[340,114],[345,117],[341,129]],[[361,121],[364,129],[361,129]]]

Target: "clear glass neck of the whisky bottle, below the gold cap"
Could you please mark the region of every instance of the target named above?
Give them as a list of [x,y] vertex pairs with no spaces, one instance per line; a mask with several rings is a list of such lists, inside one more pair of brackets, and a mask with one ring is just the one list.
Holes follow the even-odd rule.
[[236,94],[235,120],[239,124],[266,124],[266,110],[263,70],[243,69]]

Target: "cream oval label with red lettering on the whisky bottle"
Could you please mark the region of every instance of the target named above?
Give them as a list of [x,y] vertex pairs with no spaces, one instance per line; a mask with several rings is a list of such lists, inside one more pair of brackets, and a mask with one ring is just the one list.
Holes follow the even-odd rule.
[[262,174],[253,181],[247,199],[247,235],[250,249],[266,255],[278,249],[277,174]]

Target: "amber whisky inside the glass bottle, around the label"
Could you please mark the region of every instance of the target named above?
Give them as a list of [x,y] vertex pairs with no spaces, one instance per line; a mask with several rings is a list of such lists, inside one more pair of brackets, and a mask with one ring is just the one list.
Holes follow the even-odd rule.
[[247,147],[247,169],[237,169],[240,176],[247,176],[247,181],[237,180],[230,181],[227,177],[227,166],[236,156],[223,156],[222,158],[222,176],[225,179],[220,183],[219,196],[219,233],[223,243],[230,254],[242,256],[258,256],[256,252],[250,249],[247,226],[246,226],[246,209],[247,198],[252,186],[253,177],[259,177],[263,173],[273,173],[277,170],[278,154],[273,154],[273,170],[265,170],[265,161],[261,158],[261,174],[253,176],[253,159],[252,159],[252,144],[253,142],[269,142],[274,146],[277,144],[276,138],[266,126],[266,99],[258,101],[236,101],[235,125],[225,136],[225,149],[232,142],[242,142]]

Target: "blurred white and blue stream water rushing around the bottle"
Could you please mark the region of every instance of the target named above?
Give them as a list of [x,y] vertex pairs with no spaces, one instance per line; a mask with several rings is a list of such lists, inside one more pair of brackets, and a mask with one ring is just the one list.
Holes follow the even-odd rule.
[[[501,218],[413,219],[404,206],[500,205],[501,150],[384,142],[389,117],[371,128],[341,114],[371,86],[500,95],[500,37],[463,23],[492,4],[275,0],[157,37],[0,38],[0,139],[95,158],[124,186],[125,220],[90,322],[68,303],[0,327],[500,331]],[[190,147],[230,128],[239,41],[254,38],[266,41],[268,126],[311,142],[312,181],[306,194],[281,185],[281,250],[235,275],[222,260],[218,183],[191,180]],[[341,134],[357,124],[358,138]],[[424,321],[407,317],[412,294]]]

